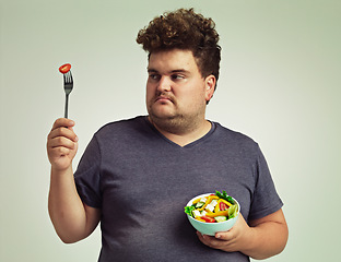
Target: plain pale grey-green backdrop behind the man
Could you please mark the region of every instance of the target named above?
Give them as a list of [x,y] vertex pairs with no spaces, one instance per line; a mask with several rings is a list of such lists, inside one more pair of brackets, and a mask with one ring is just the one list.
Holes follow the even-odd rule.
[[290,240],[269,261],[340,257],[339,0],[1,0],[1,261],[97,260],[98,229],[63,245],[47,213],[46,136],[64,103],[58,68],[72,63],[77,166],[102,124],[146,112],[146,55],[134,38],[180,7],[213,17],[221,35],[208,118],[260,143],[285,203]]

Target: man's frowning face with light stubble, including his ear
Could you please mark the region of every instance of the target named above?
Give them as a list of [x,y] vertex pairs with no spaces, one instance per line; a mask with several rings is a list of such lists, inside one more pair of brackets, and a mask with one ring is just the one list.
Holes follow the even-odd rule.
[[155,123],[157,120],[188,122],[204,119],[215,78],[201,76],[190,50],[151,53],[148,72],[146,108]]

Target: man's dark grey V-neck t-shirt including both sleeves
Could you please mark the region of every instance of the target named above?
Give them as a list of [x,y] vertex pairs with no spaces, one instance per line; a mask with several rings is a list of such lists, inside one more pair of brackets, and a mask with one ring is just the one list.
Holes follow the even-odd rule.
[[246,221],[282,207],[266,159],[248,136],[212,122],[181,147],[137,117],[98,130],[74,175],[82,201],[102,210],[101,262],[249,261],[201,243],[184,206],[225,190]]

